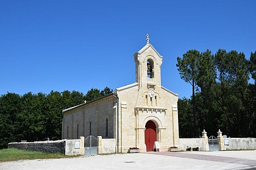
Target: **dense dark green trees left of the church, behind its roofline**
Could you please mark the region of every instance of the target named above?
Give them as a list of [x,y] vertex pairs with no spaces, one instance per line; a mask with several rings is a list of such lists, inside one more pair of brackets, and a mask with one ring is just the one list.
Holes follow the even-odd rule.
[[113,92],[109,87],[103,90],[88,90],[84,95],[73,90],[51,91],[49,94],[24,95],[9,93],[0,96],[0,149],[10,142],[27,140],[60,140],[62,137],[62,110],[77,106]]

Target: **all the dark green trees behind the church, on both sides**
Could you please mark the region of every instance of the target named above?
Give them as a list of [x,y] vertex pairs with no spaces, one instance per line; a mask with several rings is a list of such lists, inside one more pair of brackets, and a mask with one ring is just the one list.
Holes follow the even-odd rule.
[[[180,137],[199,137],[203,129],[208,135],[221,129],[230,137],[256,137],[256,51],[247,60],[235,50],[188,50],[177,57],[177,69],[192,87],[191,97],[178,101]],[[63,109],[112,92],[105,87],[86,95],[68,90],[1,95],[0,149],[13,141],[59,140]]]

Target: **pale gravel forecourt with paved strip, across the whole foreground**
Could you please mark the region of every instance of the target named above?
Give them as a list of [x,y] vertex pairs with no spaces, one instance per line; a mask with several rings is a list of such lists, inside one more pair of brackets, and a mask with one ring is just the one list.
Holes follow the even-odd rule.
[[[210,160],[209,160],[210,159]],[[0,163],[0,169],[251,169],[256,151],[147,152]]]

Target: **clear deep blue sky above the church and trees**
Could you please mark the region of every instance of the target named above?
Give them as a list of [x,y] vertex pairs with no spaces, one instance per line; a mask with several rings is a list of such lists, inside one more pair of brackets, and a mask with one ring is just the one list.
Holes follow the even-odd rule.
[[0,95],[135,82],[133,54],[163,56],[162,86],[190,97],[177,56],[190,49],[256,50],[256,1],[0,0]]

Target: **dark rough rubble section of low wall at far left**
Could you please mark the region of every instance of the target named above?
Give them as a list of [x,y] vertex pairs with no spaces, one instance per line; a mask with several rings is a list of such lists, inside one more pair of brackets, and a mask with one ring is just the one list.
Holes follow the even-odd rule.
[[65,154],[65,140],[13,142],[8,143],[8,148],[23,149],[26,151],[40,151],[46,153],[61,152]]

